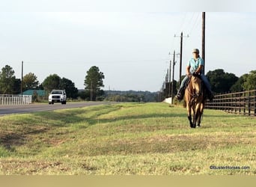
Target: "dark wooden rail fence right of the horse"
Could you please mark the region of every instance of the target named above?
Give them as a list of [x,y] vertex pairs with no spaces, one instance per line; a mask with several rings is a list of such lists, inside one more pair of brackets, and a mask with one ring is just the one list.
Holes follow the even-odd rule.
[[216,95],[205,108],[256,116],[256,90]]

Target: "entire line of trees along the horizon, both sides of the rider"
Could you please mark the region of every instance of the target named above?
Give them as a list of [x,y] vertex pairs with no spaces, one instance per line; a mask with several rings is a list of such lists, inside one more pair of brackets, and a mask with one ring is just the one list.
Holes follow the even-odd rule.
[[[222,69],[209,71],[207,74],[212,91],[214,93],[228,93],[237,91],[248,91],[256,89],[256,70],[237,77],[234,73],[226,73]],[[85,100],[110,100],[124,102],[155,102],[162,101],[170,96],[172,82],[165,82],[162,91],[151,93],[148,91],[103,91],[103,79],[105,76],[100,72],[99,67],[93,66],[87,72],[84,80],[85,90],[78,91],[75,84],[65,77],[61,78],[57,74],[46,77],[40,84],[34,73],[28,73],[21,79],[16,79],[12,67],[5,65],[0,72],[0,94],[19,94],[27,90],[44,90],[49,93],[53,89],[63,89],[70,99]],[[183,76],[182,76],[183,79]],[[177,93],[179,85],[174,80],[174,95]],[[47,95],[48,96],[48,95]]]

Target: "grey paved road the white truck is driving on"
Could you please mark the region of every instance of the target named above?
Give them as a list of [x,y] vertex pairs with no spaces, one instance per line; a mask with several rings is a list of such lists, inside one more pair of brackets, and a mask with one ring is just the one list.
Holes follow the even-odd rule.
[[30,104],[30,105],[0,105],[0,115],[22,114],[34,111],[53,111],[64,108],[80,108],[90,105],[109,105],[115,102],[67,102],[66,105],[61,103],[49,104]]

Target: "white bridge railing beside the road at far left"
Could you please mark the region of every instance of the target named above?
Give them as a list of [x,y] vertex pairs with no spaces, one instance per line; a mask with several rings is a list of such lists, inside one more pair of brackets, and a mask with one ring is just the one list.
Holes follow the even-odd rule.
[[31,95],[0,95],[0,105],[28,105],[31,102]]

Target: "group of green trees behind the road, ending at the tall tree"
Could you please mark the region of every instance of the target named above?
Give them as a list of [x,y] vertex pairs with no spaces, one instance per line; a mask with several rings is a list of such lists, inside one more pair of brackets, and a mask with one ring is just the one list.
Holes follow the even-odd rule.
[[0,94],[20,94],[21,91],[27,90],[44,90],[47,93],[53,89],[65,90],[67,97],[70,99],[83,99],[96,100],[103,96],[104,91],[100,88],[103,87],[104,75],[100,72],[98,67],[91,67],[85,76],[85,91],[79,93],[75,83],[65,77],[61,78],[57,74],[51,74],[44,79],[40,84],[37,76],[34,73],[28,73],[21,79],[16,79],[15,71],[9,65],[1,68],[0,72]]

